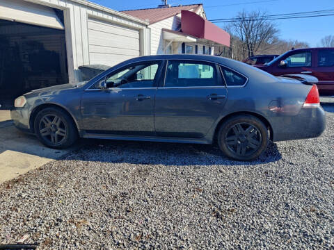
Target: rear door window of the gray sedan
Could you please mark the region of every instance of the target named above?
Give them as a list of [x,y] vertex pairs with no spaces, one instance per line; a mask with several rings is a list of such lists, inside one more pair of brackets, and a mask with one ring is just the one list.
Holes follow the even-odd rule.
[[211,63],[168,61],[165,87],[202,87],[218,85],[216,67]]

